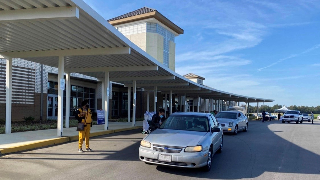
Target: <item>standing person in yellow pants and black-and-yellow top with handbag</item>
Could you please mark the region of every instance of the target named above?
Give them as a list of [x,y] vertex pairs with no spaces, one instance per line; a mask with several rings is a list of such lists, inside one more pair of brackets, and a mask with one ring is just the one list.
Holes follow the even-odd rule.
[[79,148],[78,152],[84,152],[82,150],[83,137],[85,139],[85,151],[93,151],[89,148],[90,129],[92,127],[92,112],[89,109],[88,100],[81,102],[81,108],[76,112],[76,119],[79,123],[84,123],[84,130],[79,131]]

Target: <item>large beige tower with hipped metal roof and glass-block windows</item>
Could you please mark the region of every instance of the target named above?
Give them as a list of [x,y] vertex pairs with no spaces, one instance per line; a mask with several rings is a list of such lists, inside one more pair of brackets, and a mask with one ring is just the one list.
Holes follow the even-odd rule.
[[175,70],[174,38],[183,34],[183,29],[157,10],[143,7],[108,22],[142,50]]

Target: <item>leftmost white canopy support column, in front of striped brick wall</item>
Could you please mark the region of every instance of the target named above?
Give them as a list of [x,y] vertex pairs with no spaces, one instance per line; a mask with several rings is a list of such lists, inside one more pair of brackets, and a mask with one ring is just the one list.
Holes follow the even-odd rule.
[[7,58],[5,88],[5,133],[11,133],[12,118],[12,58]]

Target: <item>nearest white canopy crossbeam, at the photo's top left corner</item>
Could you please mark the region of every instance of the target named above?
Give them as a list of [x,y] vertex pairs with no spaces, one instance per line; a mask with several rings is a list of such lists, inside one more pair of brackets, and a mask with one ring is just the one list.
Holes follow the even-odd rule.
[[79,19],[79,8],[76,6],[47,7],[5,10],[0,12],[0,23],[66,19]]

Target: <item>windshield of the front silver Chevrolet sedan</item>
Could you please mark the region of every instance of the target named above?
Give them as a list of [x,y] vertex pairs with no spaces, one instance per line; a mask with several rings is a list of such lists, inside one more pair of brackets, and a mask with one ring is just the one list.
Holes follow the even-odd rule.
[[177,114],[169,116],[159,128],[209,132],[209,127],[210,125],[207,117]]

